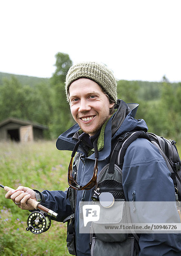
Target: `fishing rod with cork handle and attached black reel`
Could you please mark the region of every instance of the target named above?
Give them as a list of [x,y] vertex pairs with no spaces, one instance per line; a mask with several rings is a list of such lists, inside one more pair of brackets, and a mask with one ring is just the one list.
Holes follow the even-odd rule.
[[[11,189],[8,186],[3,186],[0,184],[0,187],[3,188],[6,192],[9,192]],[[50,216],[57,218],[58,214],[43,205],[40,202],[37,202],[31,198],[27,200],[27,204],[34,207],[34,209],[39,209],[40,211],[34,211],[28,216],[26,228],[27,231],[31,231],[33,234],[41,234],[47,231],[51,226]]]

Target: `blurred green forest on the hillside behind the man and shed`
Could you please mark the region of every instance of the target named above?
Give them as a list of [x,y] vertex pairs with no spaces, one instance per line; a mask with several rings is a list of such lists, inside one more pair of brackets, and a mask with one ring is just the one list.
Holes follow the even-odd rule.
[[[0,122],[11,116],[48,125],[46,139],[57,138],[74,124],[64,90],[72,60],[62,52],[55,57],[51,78],[0,73]],[[166,76],[160,82],[119,80],[118,99],[140,105],[136,119],[143,118],[149,132],[181,140],[181,82],[170,83]]]

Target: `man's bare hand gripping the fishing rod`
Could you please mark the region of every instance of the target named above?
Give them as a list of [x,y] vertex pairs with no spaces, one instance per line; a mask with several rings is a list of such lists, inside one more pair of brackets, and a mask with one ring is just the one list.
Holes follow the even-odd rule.
[[5,195],[6,198],[12,199],[12,201],[21,209],[34,210],[34,207],[27,204],[27,200],[32,198],[36,201],[35,192],[28,187],[19,186],[16,190],[12,189]]

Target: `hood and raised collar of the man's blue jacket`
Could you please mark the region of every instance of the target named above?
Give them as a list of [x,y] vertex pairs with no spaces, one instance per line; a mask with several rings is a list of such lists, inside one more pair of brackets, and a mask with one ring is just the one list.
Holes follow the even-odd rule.
[[[139,104],[129,103],[126,104],[123,100],[118,100],[115,108],[118,110],[109,119],[105,132],[104,132],[104,148],[99,151],[98,160],[104,160],[109,157],[111,152],[111,143],[116,137],[133,130],[147,131],[147,124],[143,119],[135,119],[135,114]],[[75,134],[80,129],[78,124],[73,125],[63,134],[61,134],[56,142],[56,147],[59,150],[73,151],[77,142]],[[85,154],[85,151],[81,145],[78,147],[78,152]],[[95,155],[92,154],[89,158],[95,159]]]

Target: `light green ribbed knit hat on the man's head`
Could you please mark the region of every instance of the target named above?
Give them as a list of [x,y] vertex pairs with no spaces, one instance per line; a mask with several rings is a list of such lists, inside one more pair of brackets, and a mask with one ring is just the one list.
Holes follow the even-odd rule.
[[69,86],[79,78],[88,78],[95,81],[102,87],[103,91],[106,92],[112,101],[117,101],[117,83],[112,71],[105,65],[97,62],[81,62],[70,67],[66,75],[65,85],[68,101]]

